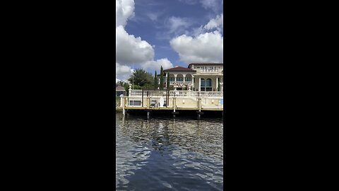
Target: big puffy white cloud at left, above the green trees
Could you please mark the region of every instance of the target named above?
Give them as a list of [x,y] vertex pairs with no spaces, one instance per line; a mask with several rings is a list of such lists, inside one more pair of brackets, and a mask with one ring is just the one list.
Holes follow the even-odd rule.
[[122,26],[116,28],[115,40],[116,62],[133,64],[153,60],[153,47],[141,37],[129,35]]

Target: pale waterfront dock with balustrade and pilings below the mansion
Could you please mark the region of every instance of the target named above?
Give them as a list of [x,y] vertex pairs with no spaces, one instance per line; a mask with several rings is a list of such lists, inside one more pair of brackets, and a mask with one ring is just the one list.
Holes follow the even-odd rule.
[[[145,91],[129,90],[129,96],[120,96],[120,105],[117,110],[122,110],[123,115],[127,111],[147,112],[148,118],[151,112],[170,111],[172,115],[180,115],[179,111],[196,111],[201,117],[203,111],[215,111],[223,113],[222,92],[195,92],[195,91]],[[160,100],[165,100],[160,105]]]

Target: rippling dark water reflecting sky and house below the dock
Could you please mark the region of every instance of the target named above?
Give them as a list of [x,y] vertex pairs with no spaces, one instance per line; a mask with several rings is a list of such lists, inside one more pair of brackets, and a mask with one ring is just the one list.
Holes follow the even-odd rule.
[[222,190],[222,119],[116,118],[116,190]]

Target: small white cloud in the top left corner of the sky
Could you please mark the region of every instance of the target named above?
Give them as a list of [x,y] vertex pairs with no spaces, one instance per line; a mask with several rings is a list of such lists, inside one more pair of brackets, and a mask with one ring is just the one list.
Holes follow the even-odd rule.
[[133,0],[115,0],[115,27],[126,26],[127,20],[134,16]]

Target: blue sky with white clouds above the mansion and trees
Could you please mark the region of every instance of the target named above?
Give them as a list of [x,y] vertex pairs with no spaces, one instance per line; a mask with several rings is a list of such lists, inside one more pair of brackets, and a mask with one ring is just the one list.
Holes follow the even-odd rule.
[[222,0],[116,0],[116,82],[193,62],[223,63]]

